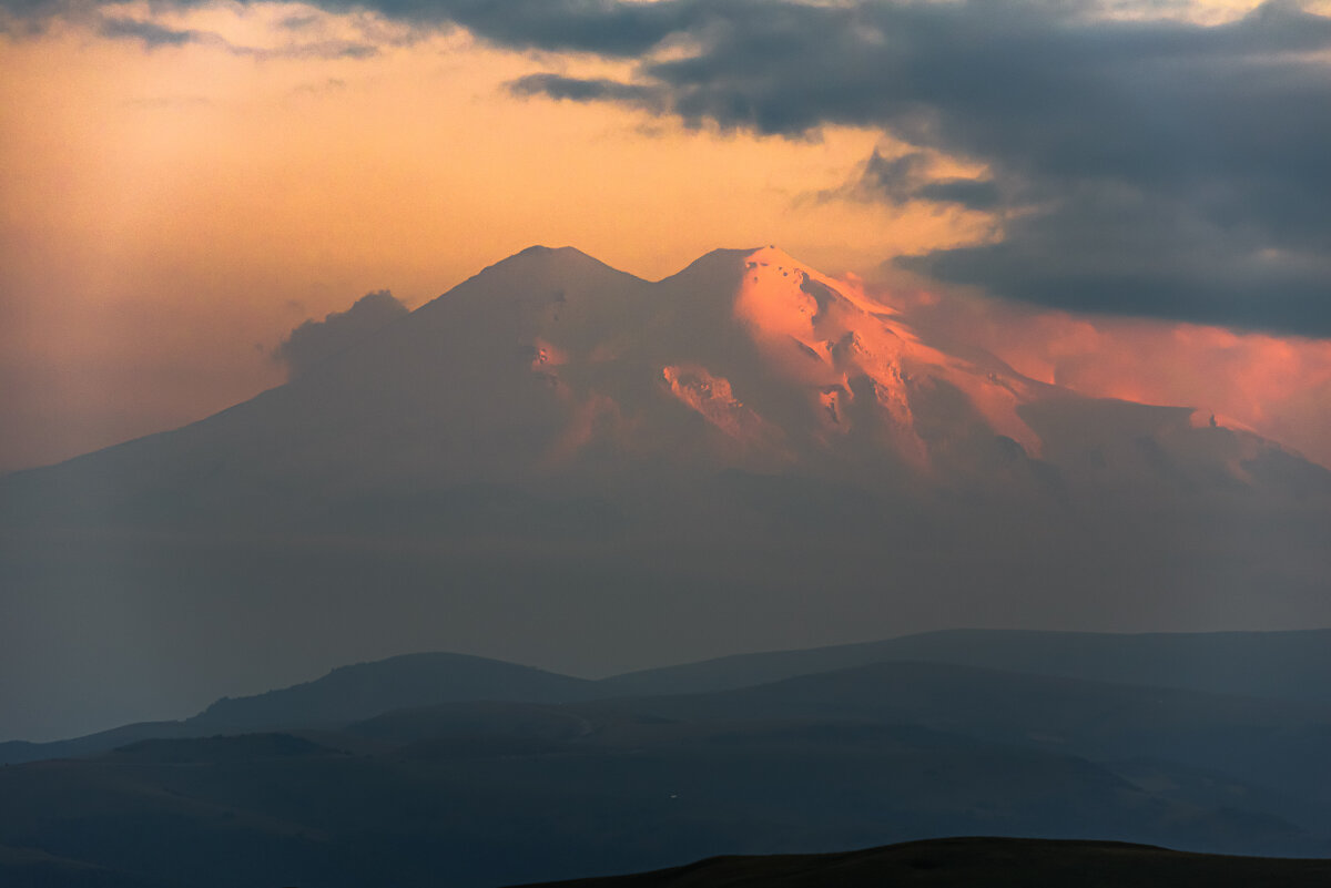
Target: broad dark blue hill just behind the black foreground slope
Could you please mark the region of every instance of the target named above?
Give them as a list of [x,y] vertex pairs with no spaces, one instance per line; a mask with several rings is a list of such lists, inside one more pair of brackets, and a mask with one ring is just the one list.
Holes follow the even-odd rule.
[[1268,814],[1171,800],[1085,759],[918,727],[582,717],[580,734],[532,722],[539,730],[381,736],[354,752],[333,736],[148,740],[11,766],[0,768],[0,844],[192,888],[483,888],[958,833],[1324,848]]

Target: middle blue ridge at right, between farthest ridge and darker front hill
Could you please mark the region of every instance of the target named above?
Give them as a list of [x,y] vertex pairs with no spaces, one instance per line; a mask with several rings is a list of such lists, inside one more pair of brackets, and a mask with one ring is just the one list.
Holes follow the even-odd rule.
[[628,698],[672,721],[852,719],[993,743],[1222,771],[1331,803],[1331,707],[945,663],[884,662],[711,694]]

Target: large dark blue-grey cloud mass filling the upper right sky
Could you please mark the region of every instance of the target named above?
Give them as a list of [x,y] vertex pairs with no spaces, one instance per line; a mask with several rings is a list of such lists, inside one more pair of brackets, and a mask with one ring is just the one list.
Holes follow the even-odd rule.
[[1331,49],[1327,17],[1274,3],[1215,27],[1012,0],[667,5],[697,53],[644,58],[632,84],[520,90],[651,96],[687,125],[763,134],[880,126],[989,178],[874,156],[847,197],[1002,214],[1001,243],[909,259],[918,270],[1067,308],[1331,335],[1331,65],[1310,56]]

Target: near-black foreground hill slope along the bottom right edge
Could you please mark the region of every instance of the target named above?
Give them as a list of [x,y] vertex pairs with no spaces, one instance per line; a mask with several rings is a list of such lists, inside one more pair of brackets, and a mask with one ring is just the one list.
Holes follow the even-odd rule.
[[716,857],[632,876],[544,883],[544,888],[1314,888],[1326,884],[1331,884],[1331,860],[1222,857],[1114,841],[936,839],[847,853]]

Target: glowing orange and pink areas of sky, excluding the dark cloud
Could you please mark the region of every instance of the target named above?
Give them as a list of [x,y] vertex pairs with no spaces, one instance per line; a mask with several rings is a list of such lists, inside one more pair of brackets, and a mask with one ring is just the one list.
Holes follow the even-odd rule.
[[[310,23],[276,25],[293,15]],[[415,306],[531,243],[646,278],[780,243],[869,277],[993,237],[980,213],[819,199],[892,150],[877,132],[723,136],[519,100],[502,85],[526,73],[615,72],[295,4],[153,21],[228,43],[69,21],[0,37],[0,471],[206,416],[281,383],[272,352],[303,319],[379,288]],[[377,56],[322,57],[367,31]],[[954,324],[1018,370],[1214,405],[1331,464],[1326,342],[980,304]]]

